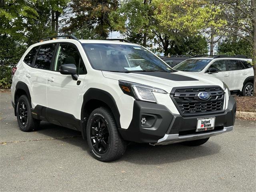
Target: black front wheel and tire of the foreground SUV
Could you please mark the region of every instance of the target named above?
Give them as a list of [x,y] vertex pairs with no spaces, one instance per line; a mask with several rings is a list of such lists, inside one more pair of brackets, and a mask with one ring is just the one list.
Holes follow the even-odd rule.
[[92,156],[100,161],[117,160],[126,150],[126,142],[118,132],[114,116],[106,108],[97,108],[90,114],[86,136]]

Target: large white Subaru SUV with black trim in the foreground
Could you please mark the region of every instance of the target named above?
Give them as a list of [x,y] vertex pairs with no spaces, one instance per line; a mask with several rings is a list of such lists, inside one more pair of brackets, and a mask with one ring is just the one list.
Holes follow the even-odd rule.
[[20,130],[43,120],[81,131],[107,162],[128,141],[197,146],[233,129],[236,102],[220,80],[173,70],[125,40],[66,38],[30,46],[13,68]]

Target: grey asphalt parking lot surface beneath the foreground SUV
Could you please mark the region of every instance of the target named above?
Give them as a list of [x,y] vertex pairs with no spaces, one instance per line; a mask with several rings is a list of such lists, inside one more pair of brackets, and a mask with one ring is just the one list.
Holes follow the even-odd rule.
[[21,132],[10,92],[0,93],[0,191],[256,191],[256,121],[198,147],[131,144],[104,163],[80,132],[46,122]]

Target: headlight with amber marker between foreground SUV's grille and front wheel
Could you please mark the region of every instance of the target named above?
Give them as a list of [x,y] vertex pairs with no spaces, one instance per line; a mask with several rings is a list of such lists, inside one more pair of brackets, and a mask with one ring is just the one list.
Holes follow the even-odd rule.
[[156,102],[156,98],[152,92],[167,94],[166,91],[142,84],[136,84],[119,80],[119,86],[124,94],[134,97],[136,100]]

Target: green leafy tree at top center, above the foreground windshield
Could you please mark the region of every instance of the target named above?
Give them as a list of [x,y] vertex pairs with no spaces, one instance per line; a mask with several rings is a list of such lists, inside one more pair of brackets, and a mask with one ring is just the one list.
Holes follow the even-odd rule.
[[151,0],[124,0],[111,14],[113,28],[133,43],[147,46],[152,39],[153,10]]

